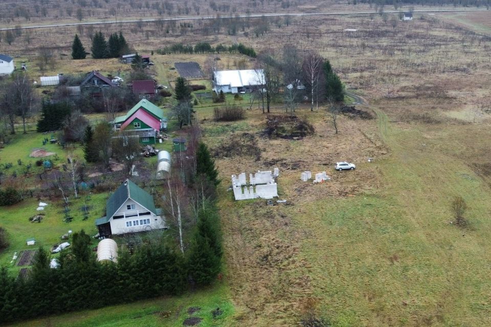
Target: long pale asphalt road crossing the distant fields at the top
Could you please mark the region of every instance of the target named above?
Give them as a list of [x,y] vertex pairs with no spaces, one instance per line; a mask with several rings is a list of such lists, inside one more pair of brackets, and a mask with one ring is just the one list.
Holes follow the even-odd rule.
[[[487,9],[455,9],[455,10],[414,10],[413,13],[436,13],[436,12],[459,12],[459,11],[489,11]],[[399,11],[384,11],[388,14],[397,14]],[[238,17],[276,17],[276,16],[338,16],[338,15],[368,15],[377,14],[375,11],[363,11],[363,12],[318,12],[318,13],[264,13],[264,14],[251,14],[251,15],[238,15]],[[221,18],[235,18],[236,16],[221,16]],[[41,28],[51,28],[51,27],[63,27],[63,26],[78,26],[78,25],[101,25],[101,24],[123,24],[127,22],[138,22],[138,21],[172,21],[172,20],[198,20],[198,19],[215,19],[214,16],[203,16],[203,17],[178,17],[178,18],[153,18],[153,19],[132,19],[132,20],[107,20],[107,21],[93,21],[93,22],[73,22],[68,24],[52,24],[52,25],[37,25],[37,26],[21,26],[21,29],[41,29]],[[0,31],[14,30],[16,28],[2,28]]]

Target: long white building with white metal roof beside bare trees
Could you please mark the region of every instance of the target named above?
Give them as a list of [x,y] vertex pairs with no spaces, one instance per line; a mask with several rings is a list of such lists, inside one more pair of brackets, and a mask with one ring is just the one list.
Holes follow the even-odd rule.
[[244,69],[234,71],[216,71],[213,73],[213,84],[217,94],[250,92],[251,87],[264,85],[264,72],[262,69]]

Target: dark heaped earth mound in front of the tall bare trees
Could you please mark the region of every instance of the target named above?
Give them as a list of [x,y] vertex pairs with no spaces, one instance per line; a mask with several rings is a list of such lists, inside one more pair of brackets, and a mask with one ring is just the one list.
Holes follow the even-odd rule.
[[263,135],[269,138],[302,139],[314,132],[314,126],[296,115],[269,115],[266,117]]

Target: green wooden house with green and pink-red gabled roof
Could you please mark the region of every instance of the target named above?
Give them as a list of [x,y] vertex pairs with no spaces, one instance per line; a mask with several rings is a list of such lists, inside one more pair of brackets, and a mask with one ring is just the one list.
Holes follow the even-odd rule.
[[167,118],[161,108],[142,99],[124,116],[117,117],[113,126],[126,136],[138,135],[142,144],[155,144],[155,135],[167,129]]

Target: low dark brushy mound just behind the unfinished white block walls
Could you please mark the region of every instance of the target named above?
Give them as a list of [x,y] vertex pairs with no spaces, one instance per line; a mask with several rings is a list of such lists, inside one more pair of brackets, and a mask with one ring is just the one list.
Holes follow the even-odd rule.
[[255,135],[250,133],[232,134],[222,144],[214,148],[212,154],[218,158],[254,156],[257,161],[261,158],[261,149],[257,145]]

